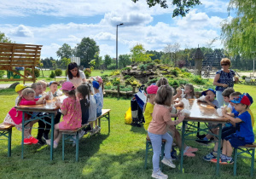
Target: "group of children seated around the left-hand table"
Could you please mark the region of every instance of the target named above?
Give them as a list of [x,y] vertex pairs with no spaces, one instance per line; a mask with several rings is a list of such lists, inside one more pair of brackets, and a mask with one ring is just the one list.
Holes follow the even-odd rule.
[[[46,93],[47,83],[44,81],[38,81],[28,87],[24,84],[18,84],[15,87],[15,92],[18,96],[15,100],[15,106],[26,105],[38,105],[44,104],[48,100],[53,100],[54,97],[59,95],[66,95],[67,98],[61,101],[55,100],[55,106],[60,109],[55,113],[55,132],[54,138],[49,139],[50,130],[50,118],[45,113],[30,113],[25,114],[25,120],[29,118],[35,118],[36,116],[44,118],[42,120],[33,120],[26,124],[24,127],[24,144],[40,144],[47,143],[50,145],[50,140],[54,140],[54,147],[58,146],[61,139],[60,130],[75,130],[81,127],[82,124],[90,123],[89,127],[82,130],[79,137],[84,136],[87,132],[90,135],[94,135],[101,130],[97,125],[96,118],[102,114],[103,106],[103,93],[102,93],[102,78],[92,78],[92,83],[80,84],[76,89],[74,85],[67,81],[62,84],[60,90],[58,90],[58,82],[52,81],[49,83],[49,92]],[[94,94],[90,91],[90,85],[94,89]],[[60,122],[61,115],[63,118]],[[37,138],[31,135],[33,124],[38,122],[38,136]],[[9,111],[3,120],[4,124],[14,124],[17,130],[22,130],[22,112],[16,110],[15,107]],[[93,123],[95,127],[93,127]]]

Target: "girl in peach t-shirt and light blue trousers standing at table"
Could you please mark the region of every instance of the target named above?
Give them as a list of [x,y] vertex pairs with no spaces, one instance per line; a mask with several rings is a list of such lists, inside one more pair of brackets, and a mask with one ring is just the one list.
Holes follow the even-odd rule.
[[160,86],[157,90],[156,97],[154,99],[154,111],[152,114],[152,121],[148,127],[148,136],[153,147],[153,173],[154,178],[168,178],[167,175],[163,174],[160,170],[160,153],[162,139],[166,139],[165,145],[165,157],[161,162],[172,168],[176,165],[172,163],[171,148],[172,148],[172,136],[167,133],[167,125],[176,125],[183,121],[184,115],[179,115],[178,120],[172,121],[171,118],[171,104],[172,104],[172,87],[169,85]]

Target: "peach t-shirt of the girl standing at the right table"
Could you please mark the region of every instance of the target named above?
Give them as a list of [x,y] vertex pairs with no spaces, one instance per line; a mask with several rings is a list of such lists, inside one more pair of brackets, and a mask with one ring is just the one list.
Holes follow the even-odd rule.
[[148,132],[157,135],[163,135],[167,132],[167,125],[172,124],[170,107],[155,104],[152,113],[152,121],[149,124]]

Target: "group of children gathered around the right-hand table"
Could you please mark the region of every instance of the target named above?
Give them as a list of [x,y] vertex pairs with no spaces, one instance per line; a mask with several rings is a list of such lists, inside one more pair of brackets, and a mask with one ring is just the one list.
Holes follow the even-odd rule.
[[[173,139],[177,142],[177,146],[181,148],[181,137],[177,131],[175,125],[182,123],[184,114],[176,112],[175,107],[183,106],[183,102],[177,100],[177,98],[195,99],[194,87],[192,84],[186,84],[184,90],[177,90],[177,94],[174,95],[174,90],[168,84],[166,78],[161,78],[156,84],[151,84],[147,88],[147,103],[144,106],[144,128],[148,131],[148,136],[153,147],[153,173],[154,178],[168,178],[160,170],[160,153],[162,139],[166,139],[165,144],[165,156],[161,162],[165,165],[175,168],[172,163],[175,159],[173,156],[174,148]],[[206,102],[208,105],[218,109],[218,101],[215,100],[216,92],[212,89],[208,89],[202,93],[204,97],[198,99],[198,101]],[[253,103],[253,98],[249,94],[242,94],[235,92],[229,88],[223,92],[224,101],[229,102],[227,107],[222,107],[222,115],[225,118],[230,119],[229,124],[225,124],[222,130],[222,154],[220,157],[220,164],[233,164],[231,157],[233,148],[251,144],[254,141],[253,124],[254,118],[249,107]],[[177,118],[177,120],[172,120]],[[217,124],[209,124],[212,128],[213,134],[218,134]],[[212,135],[201,136],[198,142],[207,144],[210,142]],[[207,154],[203,159],[217,162],[218,140],[215,138],[215,146],[212,153]],[[185,145],[183,155],[188,157],[195,157],[197,148],[189,147]]]

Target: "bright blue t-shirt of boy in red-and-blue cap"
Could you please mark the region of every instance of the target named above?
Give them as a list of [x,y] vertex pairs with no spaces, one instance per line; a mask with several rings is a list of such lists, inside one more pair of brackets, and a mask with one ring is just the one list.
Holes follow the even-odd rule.
[[247,143],[253,143],[254,134],[250,113],[246,111],[237,116],[237,118],[241,119],[241,123],[239,123],[239,126],[236,126],[236,136],[244,137]]

